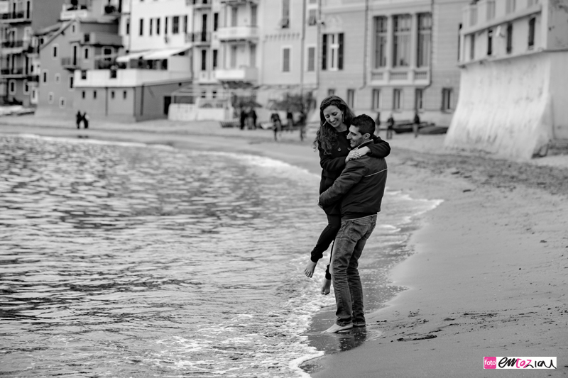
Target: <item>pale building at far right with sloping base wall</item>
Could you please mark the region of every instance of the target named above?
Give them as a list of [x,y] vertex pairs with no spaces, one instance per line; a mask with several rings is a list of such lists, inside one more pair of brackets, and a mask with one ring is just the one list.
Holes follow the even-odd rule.
[[461,91],[445,144],[528,159],[568,139],[568,0],[464,8]]

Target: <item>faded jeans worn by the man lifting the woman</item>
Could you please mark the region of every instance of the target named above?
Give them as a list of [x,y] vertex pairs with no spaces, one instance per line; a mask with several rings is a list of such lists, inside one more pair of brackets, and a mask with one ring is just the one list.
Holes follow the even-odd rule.
[[377,216],[342,221],[332,253],[332,282],[337,303],[337,325],[365,325],[359,257],[375,229]]

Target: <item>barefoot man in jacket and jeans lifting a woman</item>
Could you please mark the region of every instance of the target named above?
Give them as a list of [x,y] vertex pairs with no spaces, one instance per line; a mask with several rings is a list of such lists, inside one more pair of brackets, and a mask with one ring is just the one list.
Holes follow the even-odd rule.
[[[373,143],[373,118],[362,114],[349,126],[349,141],[354,151]],[[324,333],[337,333],[364,327],[363,286],[359,277],[359,258],[373,232],[385,192],[387,166],[384,159],[363,156],[346,163],[332,187],[320,194],[324,208],[341,204],[341,228],[332,251],[332,277],[337,304],[337,320]]]

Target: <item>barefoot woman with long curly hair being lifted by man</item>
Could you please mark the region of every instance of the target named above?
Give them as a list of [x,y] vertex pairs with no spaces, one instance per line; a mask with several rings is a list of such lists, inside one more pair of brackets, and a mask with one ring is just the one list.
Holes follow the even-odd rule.
[[[320,181],[320,194],[332,187],[334,181],[342,174],[349,160],[359,159],[363,155],[383,158],[391,153],[391,146],[381,138],[373,136],[373,144],[351,150],[351,143],[347,139],[351,120],[355,117],[353,111],[339,96],[327,96],[320,104],[320,128],[314,140],[314,149],[320,152],[320,166],[322,167],[322,179]],[[341,227],[341,204],[325,207],[327,226],[322,231],[320,238],[311,252],[310,261],[304,269],[307,277],[314,274],[317,260],[323,257],[323,252],[335,239],[335,235]],[[331,256],[330,256],[331,260]],[[332,277],[329,274],[329,265],[325,270],[325,280],[322,285],[322,294],[329,294]]]

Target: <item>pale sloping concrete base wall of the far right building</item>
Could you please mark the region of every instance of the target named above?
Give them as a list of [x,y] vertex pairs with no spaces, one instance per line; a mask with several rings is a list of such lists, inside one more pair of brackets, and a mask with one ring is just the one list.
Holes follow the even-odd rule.
[[[557,54],[466,65],[461,71],[459,104],[444,144],[517,159],[530,159],[539,152],[553,138],[553,99],[562,93],[550,87],[551,65],[566,67],[565,59],[564,66],[551,63]],[[561,95],[566,104],[567,95]]]

